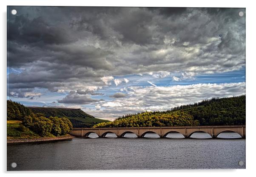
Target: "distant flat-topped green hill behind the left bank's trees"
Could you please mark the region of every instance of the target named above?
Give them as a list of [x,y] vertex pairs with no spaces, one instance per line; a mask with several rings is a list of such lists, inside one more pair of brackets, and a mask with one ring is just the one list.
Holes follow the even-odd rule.
[[41,113],[47,118],[50,116],[66,117],[73,124],[74,128],[77,127],[91,127],[101,122],[108,122],[83,112],[81,109],[71,108],[53,108],[53,107],[27,107],[35,114]]

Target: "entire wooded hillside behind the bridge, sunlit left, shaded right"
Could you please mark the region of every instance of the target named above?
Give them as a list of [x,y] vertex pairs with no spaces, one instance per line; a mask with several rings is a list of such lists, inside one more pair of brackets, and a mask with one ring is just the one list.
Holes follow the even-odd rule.
[[245,125],[245,96],[212,98],[163,112],[125,115],[94,127]]

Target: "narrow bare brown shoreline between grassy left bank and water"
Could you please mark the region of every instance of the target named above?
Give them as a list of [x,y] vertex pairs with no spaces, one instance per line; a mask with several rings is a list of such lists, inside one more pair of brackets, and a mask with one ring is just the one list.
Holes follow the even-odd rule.
[[60,137],[42,137],[42,138],[20,138],[20,139],[7,139],[7,145],[14,144],[25,144],[25,143],[43,143],[43,142],[54,142],[62,140],[72,140],[75,138],[72,135],[65,135]]

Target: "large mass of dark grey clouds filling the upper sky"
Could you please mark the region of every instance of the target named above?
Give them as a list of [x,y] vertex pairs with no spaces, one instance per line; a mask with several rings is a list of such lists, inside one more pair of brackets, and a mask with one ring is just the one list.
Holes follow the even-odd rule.
[[88,103],[104,76],[245,66],[245,8],[9,8],[8,67],[20,71],[9,73],[9,96],[77,90],[60,102]]

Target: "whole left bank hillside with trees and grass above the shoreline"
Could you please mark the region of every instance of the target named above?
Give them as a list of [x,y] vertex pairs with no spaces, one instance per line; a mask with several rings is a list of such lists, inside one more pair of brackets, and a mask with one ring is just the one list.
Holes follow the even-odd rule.
[[34,114],[24,105],[7,100],[7,138],[40,138],[65,136],[72,131],[68,118],[44,117]]

